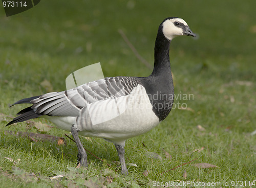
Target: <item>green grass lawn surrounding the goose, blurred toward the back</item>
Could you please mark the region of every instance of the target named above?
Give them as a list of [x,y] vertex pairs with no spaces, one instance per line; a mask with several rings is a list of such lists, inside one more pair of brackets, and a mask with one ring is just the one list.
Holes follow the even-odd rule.
[[[2,9],[1,113],[14,116],[27,105],[9,108],[8,104],[47,92],[40,84],[44,80],[55,91],[65,90],[66,77],[92,63],[101,62],[106,77],[149,75],[151,69],[135,57],[118,29],[153,64],[157,27],[168,16],[184,18],[199,36],[196,40],[175,38],[170,49],[175,93],[194,98],[177,99],[175,104],[184,103],[187,110],[173,109],[159,126],[126,141],[125,160],[138,166],[129,166],[126,177],[120,175],[114,162],[118,161],[114,146],[102,139],[81,137],[84,147],[103,162],[88,154],[89,168],[75,169],[77,148],[70,139],[66,137],[66,145],[57,146],[55,142],[34,143],[25,137],[5,135],[4,130],[39,131],[26,123],[5,127],[11,119],[0,115],[0,187],[154,187],[154,181],[183,180],[230,185],[232,180],[255,180],[256,136],[250,133],[256,129],[256,3],[79,3],[41,1],[33,9],[11,17],[6,17]],[[52,125],[45,120],[35,121]],[[198,125],[205,130],[199,130]],[[63,137],[65,133],[71,135],[58,128],[46,132]],[[165,157],[163,149],[171,159]],[[157,153],[161,159],[152,158],[148,152]],[[13,165],[5,157],[20,161]],[[193,159],[196,160],[163,173]],[[201,162],[217,168],[193,166]],[[149,172],[147,177],[143,175],[145,170]],[[49,179],[60,174],[67,176]],[[113,178],[112,183],[106,180],[109,177]]]

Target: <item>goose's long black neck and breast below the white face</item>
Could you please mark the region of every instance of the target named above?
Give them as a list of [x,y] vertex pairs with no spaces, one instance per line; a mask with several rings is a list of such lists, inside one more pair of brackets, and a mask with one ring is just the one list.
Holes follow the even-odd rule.
[[[160,25],[155,44],[155,63],[150,79],[146,81],[146,92],[159,121],[165,119],[173,106],[174,85],[169,60],[170,41],[165,38]],[[152,99],[152,96],[157,99]]]

